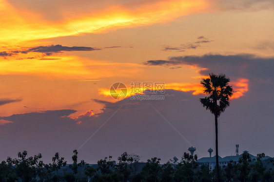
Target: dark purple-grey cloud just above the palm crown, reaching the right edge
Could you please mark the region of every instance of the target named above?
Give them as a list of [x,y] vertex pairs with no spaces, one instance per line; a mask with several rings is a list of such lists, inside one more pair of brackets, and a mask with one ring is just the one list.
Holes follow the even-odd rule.
[[170,58],[170,61],[150,60],[143,64],[151,66],[196,65],[207,68],[199,71],[202,75],[215,72],[252,79],[273,80],[274,78],[274,58],[262,58],[251,54],[179,56]]

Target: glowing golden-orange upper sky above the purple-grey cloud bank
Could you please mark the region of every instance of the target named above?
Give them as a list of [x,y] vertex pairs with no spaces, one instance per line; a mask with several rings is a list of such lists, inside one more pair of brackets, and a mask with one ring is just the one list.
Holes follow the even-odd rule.
[[[274,57],[273,7],[269,0],[0,0],[0,116],[59,109],[93,116],[104,107],[94,99],[117,101],[109,94],[116,82],[202,94],[204,72],[218,70],[206,55]],[[146,64],[187,56],[201,61]],[[229,71],[235,100],[263,82]]]

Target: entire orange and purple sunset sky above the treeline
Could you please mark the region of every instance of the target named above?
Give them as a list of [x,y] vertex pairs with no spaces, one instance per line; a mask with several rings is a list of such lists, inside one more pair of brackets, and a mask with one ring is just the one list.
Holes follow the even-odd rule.
[[[206,157],[210,72],[235,90],[219,155],[274,156],[273,0],[0,0],[0,17],[0,160],[78,149],[88,163],[124,151],[164,163],[191,145]],[[165,99],[113,99],[116,82],[165,83]]]

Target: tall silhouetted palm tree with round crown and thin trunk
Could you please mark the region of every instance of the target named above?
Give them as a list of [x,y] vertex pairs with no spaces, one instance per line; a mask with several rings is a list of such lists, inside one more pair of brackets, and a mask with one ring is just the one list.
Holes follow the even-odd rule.
[[215,147],[216,147],[216,168],[217,178],[220,182],[219,160],[218,160],[218,117],[230,105],[230,98],[233,95],[232,86],[228,85],[230,78],[225,74],[209,74],[210,78],[202,79],[201,84],[203,92],[207,97],[200,99],[200,102],[206,110],[209,110],[215,116]]

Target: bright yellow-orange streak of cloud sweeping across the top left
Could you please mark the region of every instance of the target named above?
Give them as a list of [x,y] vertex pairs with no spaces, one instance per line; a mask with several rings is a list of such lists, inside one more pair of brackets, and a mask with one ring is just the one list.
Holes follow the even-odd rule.
[[82,33],[102,33],[117,28],[151,25],[200,13],[207,6],[205,0],[160,0],[135,8],[111,6],[84,16],[73,13],[73,16],[54,22],[43,19],[38,13],[16,9],[7,0],[0,0],[0,43],[6,46],[10,42],[14,45],[15,42],[78,35],[73,27]]

